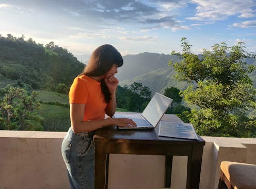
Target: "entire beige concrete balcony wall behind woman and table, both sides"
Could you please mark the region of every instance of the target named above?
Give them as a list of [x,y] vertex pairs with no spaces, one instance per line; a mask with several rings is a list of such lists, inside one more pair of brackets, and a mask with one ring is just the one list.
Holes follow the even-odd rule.
[[[0,130],[0,188],[70,188],[61,156],[61,142],[65,134]],[[203,139],[206,143],[200,189],[217,188],[221,161],[256,164],[256,139]],[[172,187],[186,188],[186,161],[186,157],[173,157]],[[108,188],[163,187],[164,164],[163,156],[111,154]],[[134,178],[138,174],[141,177]]]

